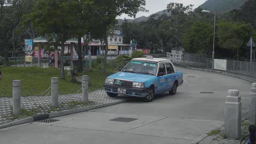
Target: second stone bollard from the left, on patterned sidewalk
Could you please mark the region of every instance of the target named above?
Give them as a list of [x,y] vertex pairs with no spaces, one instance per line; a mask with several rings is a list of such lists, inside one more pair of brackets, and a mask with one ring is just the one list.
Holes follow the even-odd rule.
[[59,78],[51,78],[51,106],[58,107]]

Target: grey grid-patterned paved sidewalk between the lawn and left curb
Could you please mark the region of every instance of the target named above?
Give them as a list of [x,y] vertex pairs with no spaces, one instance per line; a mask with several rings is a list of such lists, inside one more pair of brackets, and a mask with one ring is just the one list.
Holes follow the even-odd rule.
[[[51,107],[50,96],[32,96],[21,97],[21,109],[33,111],[34,114],[40,115],[43,113],[51,113],[56,111],[76,109],[96,104],[108,104],[123,100],[124,97],[108,97],[106,92],[101,89],[89,93],[89,103],[83,104],[82,93],[59,95],[59,107]],[[0,124],[8,123],[16,120],[11,114],[13,99],[9,97],[0,98]]]

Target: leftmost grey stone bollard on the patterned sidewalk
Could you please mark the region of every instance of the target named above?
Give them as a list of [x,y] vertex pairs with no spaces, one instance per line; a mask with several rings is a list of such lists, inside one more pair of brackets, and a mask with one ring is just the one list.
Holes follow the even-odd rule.
[[20,114],[21,81],[13,81],[13,114]]

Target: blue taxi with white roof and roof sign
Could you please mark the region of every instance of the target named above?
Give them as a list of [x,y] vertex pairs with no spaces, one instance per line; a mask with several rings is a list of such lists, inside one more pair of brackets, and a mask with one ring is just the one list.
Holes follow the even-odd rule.
[[133,58],[119,73],[108,76],[103,87],[109,97],[125,94],[152,101],[155,94],[176,94],[182,83],[182,72],[169,59],[148,56]]

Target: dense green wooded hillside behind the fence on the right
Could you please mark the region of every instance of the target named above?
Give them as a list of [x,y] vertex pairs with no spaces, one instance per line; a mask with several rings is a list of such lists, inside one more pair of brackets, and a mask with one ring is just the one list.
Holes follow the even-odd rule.
[[[242,3],[235,1],[236,4],[230,4],[234,7],[226,9]],[[222,4],[216,0],[215,7]],[[256,1],[247,0],[239,7],[216,17],[215,55],[218,58],[246,59],[250,56],[246,44],[249,38],[256,39]],[[201,7],[194,10],[192,5],[167,4],[167,11],[171,11],[172,16],[153,15],[147,21],[123,23],[124,43],[136,39],[142,49],[163,52],[183,49],[211,56],[214,14],[202,13],[202,10]]]

